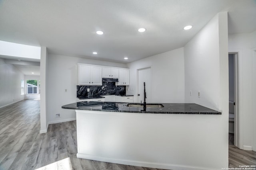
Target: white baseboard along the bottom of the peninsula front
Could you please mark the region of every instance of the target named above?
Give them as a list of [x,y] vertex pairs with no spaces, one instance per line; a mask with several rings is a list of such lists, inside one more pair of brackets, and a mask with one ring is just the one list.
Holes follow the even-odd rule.
[[115,164],[124,164],[124,165],[132,165],[132,166],[142,166],[148,168],[160,168],[160,169],[172,169],[172,170],[219,170],[220,168],[206,168],[206,167],[199,167],[199,166],[186,166],[186,165],[178,165],[178,164],[165,164],[159,162],[144,162],[144,161],[137,161],[137,160],[124,160],[124,159],[116,159],[116,158],[108,158],[102,156],[94,156],[89,154],[76,154],[77,158],[82,159],[90,159],[90,160],[97,160],[102,162],[110,162]]

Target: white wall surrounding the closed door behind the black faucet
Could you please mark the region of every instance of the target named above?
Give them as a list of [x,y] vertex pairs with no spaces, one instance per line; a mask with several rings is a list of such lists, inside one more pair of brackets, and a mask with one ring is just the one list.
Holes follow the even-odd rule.
[[[184,103],[184,53],[183,48],[161,53],[128,63],[130,86],[127,94],[137,102],[137,70],[151,66],[152,101],[160,103]],[[131,91],[134,89],[134,91]]]

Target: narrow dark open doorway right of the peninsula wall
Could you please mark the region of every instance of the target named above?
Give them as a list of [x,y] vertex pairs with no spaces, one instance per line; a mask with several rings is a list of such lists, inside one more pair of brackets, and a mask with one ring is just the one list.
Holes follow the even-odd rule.
[[229,72],[229,145],[239,147],[239,113],[238,113],[238,53],[228,53]]

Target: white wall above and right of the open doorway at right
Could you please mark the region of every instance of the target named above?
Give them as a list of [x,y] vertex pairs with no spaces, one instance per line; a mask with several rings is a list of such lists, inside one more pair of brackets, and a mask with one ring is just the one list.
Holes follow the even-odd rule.
[[[256,150],[254,140],[255,120],[255,86],[253,85],[255,74],[253,74],[254,55],[252,48],[256,47],[256,31],[253,33],[241,33],[228,35],[228,51],[238,52],[239,69],[239,128],[240,149]],[[254,135],[252,135],[254,134]],[[252,146],[254,145],[254,148]]]

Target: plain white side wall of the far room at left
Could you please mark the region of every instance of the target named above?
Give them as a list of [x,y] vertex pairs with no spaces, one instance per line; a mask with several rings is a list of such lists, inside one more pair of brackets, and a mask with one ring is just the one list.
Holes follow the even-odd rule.
[[0,58],[0,108],[24,99],[21,80],[24,80],[24,74]]

